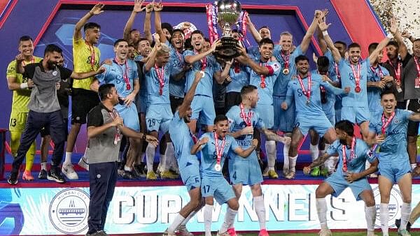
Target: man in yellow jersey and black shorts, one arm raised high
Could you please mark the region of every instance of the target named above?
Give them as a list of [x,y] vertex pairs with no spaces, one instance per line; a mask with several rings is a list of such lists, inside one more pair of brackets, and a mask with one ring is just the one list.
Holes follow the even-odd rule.
[[[104,12],[103,3],[97,3],[86,15],[84,15],[74,27],[73,32],[73,64],[77,73],[97,71],[101,57],[99,48],[94,45],[99,42],[101,27],[94,22],[87,22],[93,15]],[[85,31],[85,39],[82,38],[81,29]],[[94,77],[83,80],[75,80],[71,93],[71,129],[67,137],[66,158],[62,165],[62,172],[69,179],[78,179],[77,173],[71,165],[71,154],[76,144],[76,138],[80,132],[80,126],[86,123],[87,113],[99,103],[98,94],[91,90]]]

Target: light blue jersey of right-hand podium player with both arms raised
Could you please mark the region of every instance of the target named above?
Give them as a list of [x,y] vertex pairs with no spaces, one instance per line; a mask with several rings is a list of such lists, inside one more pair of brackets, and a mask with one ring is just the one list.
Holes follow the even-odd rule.
[[[353,71],[350,66],[350,62],[341,59],[338,63],[339,73],[341,75],[342,88],[350,87],[353,93],[349,96],[342,98],[343,107],[359,107],[359,108],[368,108],[367,105],[367,70],[370,68],[369,59],[360,62],[360,92],[356,93],[356,80],[353,75]],[[358,71],[358,66],[353,65],[354,71]]]

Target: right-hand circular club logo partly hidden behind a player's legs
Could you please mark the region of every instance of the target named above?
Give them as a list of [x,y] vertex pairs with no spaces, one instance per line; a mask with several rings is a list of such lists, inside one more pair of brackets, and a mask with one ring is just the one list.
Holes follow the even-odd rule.
[[[374,226],[380,228],[381,227],[381,219],[379,219],[380,213],[380,206],[381,206],[381,195],[379,194],[379,187],[373,189],[373,196],[374,202],[376,202],[376,209],[377,209],[377,219],[374,221]],[[401,205],[402,205],[402,196],[398,189],[394,187],[391,189],[391,195],[389,196],[389,204],[388,204],[388,211],[389,211],[389,219],[388,219],[388,226],[393,227],[395,226],[395,219],[400,217],[401,215]]]

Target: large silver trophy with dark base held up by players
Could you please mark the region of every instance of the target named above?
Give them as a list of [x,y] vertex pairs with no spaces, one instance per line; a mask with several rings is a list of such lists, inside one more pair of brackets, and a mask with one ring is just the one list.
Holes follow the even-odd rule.
[[239,56],[238,40],[232,38],[232,25],[241,14],[241,3],[236,0],[217,1],[217,21],[223,30],[221,45],[216,47],[216,57],[232,59]]

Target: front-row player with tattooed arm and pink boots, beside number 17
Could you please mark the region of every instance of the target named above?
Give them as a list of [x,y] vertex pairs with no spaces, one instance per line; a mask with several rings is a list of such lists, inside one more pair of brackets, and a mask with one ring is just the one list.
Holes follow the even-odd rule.
[[[232,106],[226,114],[230,123],[231,135],[235,138],[239,147],[246,149],[251,146],[254,128],[260,129],[267,136],[272,137],[272,140],[290,142],[290,138],[279,137],[265,128],[261,118],[262,115],[255,111],[258,103],[257,87],[253,85],[242,87],[241,98],[242,102],[239,105]],[[246,158],[231,154],[229,158],[229,174],[237,199],[241,197],[242,186],[250,186],[255,212],[260,223],[259,236],[267,236],[264,196],[262,196],[261,190],[262,173],[255,152],[252,152]]]

